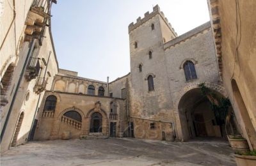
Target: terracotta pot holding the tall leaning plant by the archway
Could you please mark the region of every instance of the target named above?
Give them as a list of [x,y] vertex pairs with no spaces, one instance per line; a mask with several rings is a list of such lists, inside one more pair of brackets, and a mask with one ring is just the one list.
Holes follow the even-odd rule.
[[234,151],[246,152],[249,151],[248,142],[246,139],[231,139],[228,135],[228,142]]

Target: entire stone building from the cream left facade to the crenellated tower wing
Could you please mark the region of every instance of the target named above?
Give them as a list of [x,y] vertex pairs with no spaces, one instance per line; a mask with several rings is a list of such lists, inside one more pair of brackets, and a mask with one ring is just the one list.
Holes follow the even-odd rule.
[[[227,96],[210,22],[178,36],[154,6],[129,25],[131,72],[102,82],[58,68],[49,17],[55,2],[13,1],[17,12],[26,6],[26,19],[13,13],[13,24],[1,17],[11,25],[1,34],[1,151],[28,139],[225,137],[198,87],[205,82],[216,95]],[[13,12],[9,7],[4,3],[3,15]]]

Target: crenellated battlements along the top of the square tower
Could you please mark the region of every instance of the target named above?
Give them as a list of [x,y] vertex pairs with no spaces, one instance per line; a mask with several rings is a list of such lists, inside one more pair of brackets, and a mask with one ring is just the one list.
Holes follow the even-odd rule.
[[170,24],[170,22],[168,22],[168,19],[166,17],[164,17],[164,13],[163,11],[160,10],[158,4],[156,6],[153,7],[153,11],[151,13],[149,13],[149,11],[147,11],[144,14],[144,18],[141,19],[141,17],[138,17],[137,22],[134,24],[134,22],[132,22],[131,24],[129,24],[129,33],[131,33],[131,31],[133,31],[134,29],[136,29],[137,27],[141,26],[142,24],[144,24],[145,22],[147,22],[149,19],[152,19],[152,17],[154,17],[155,15],[160,15],[162,17],[162,19],[164,20],[164,22],[166,23],[166,25],[170,28],[170,30],[172,31],[172,33],[175,36],[178,36],[177,33],[175,32],[175,30],[173,29],[172,25]]

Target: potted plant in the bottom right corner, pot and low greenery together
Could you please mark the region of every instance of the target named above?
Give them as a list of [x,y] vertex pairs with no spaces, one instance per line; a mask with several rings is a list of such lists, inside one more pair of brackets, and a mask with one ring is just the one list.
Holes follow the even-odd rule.
[[237,166],[256,165],[256,151],[248,151],[245,153],[236,152],[235,158]]

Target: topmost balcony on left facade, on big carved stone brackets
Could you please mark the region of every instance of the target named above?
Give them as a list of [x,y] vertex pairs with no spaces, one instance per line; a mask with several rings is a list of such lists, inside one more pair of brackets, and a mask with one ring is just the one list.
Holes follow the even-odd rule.
[[57,3],[56,0],[35,0],[26,18],[26,29],[24,41],[31,41],[33,38],[38,39],[42,45],[44,37],[44,29],[47,26],[47,21],[51,16],[52,3]]

